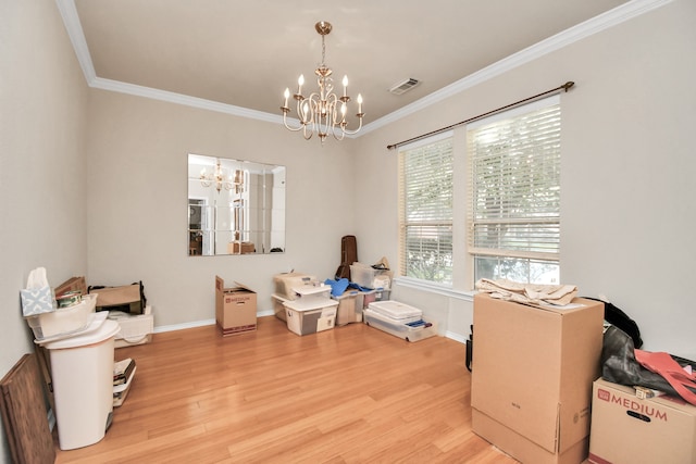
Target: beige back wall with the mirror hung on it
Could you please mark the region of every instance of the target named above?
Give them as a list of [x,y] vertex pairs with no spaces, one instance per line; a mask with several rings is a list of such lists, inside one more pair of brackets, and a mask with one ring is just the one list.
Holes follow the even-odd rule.
[[[92,90],[88,281],[142,280],[158,327],[214,318],[214,283],[240,281],[271,311],[272,276],[333,277],[353,233],[349,143],[306,141],[276,124]],[[188,153],[287,167],[285,253],[188,256]]]

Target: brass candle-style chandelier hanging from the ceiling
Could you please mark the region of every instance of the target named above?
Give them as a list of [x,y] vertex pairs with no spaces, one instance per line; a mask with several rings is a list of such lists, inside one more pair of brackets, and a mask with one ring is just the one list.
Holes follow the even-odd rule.
[[281,106],[283,111],[283,124],[285,127],[293,131],[302,130],[304,139],[309,140],[312,135],[316,133],[319,138],[324,143],[324,139],[328,134],[333,135],[336,140],[343,140],[346,134],[357,134],[362,128],[362,96],[358,93],[358,128],[349,130],[348,122],[346,121],[346,113],[348,111],[348,76],[344,76],[343,96],[338,97],[334,93],[334,79],[331,77],[333,71],[324,63],[326,54],[326,46],[324,39],[331,33],[332,25],[325,21],[321,21],[314,25],[316,32],[322,36],[322,62],[314,71],[316,75],[316,85],[319,90],[304,97],[302,95],[302,86],[304,85],[304,76],[300,75],[297,79],[297,93],[293,98],[297,101],[297,114],[299,120],[299,126],[293,127],[287,123],[287,113],[290,112],[288,106],[288,99],[290,97],[290,89],[285,89],[285,103]]

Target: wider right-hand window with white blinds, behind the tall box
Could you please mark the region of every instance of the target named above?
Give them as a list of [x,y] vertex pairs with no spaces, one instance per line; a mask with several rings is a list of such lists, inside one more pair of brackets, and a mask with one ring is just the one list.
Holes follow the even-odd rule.
[[474,281],[559,283],[558,97],[467,128],[467,211]]

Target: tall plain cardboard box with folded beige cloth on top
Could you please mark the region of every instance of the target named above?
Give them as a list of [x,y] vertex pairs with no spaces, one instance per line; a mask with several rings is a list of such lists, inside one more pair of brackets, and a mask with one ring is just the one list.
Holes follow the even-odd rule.
[[472,429],[525,463],[587,457],[604,303],[534,308],[474,297]]

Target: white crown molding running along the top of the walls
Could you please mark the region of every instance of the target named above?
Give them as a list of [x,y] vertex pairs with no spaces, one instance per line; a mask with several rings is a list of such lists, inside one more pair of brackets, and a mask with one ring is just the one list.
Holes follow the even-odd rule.
[[[566,29],[555,36],[549,37],[548,39],[542,40],[540,42],[527,47],[524,50],[513,53],[510,57],[505,58],[487,67],[484,67],[481,71],[470,74],[469,76],[463,77],[462,79],[459,79],[446,87],[443,87],[442,89],[436,90],[433,93],[430,93],[393,113],[389,113],[386,116],[373,121],[372,123],[365,124],[362,127],[360,134],[353,137],[369,134],[380,127],[391,124],[402,117],[406,117],[426,106],[430,106],[459,92],[462,92],[493,77],[504,74],[533,60],[536,60],[539,57],[559,50],[573,42],[613,27],[633,17],[663,7],[664,4],[671,3],[672,1],[674,0],[629,1],[627,3],[619,5],[613,10],[595,16],[592,20],[587,20],[584,23]],[[87,41],[85,40],[85,34],[83,32],[82,24],[79,23],[79,16],[77,15],[75,1],[55,0],[55,3],[58,4],[58,9],[63,18],[63,23],[65,24],[65,29],[67,30],[71,42],[73,43],[73,49],[75,50],[77,61],[79,62],[83,74],[85,75],[85,79],[87,80],[87,85],[89,87],[121,93],[128,93],[144,98],[151,98],[154,100],[167,101],[171,103],[215,111],[234,116],[264,121],[274,124],[283,124],[283,116],[277,114],[249,110],[241,106],[235,106],[233,104],[220,103],[216,101],[206,100],[197,97],[190,97],[182,93],[153,89],[150,87],[136,86],[133,84],[98,77],[97,73],[95,72],[95,66],[91,62],[89,48],[87,47]]]

